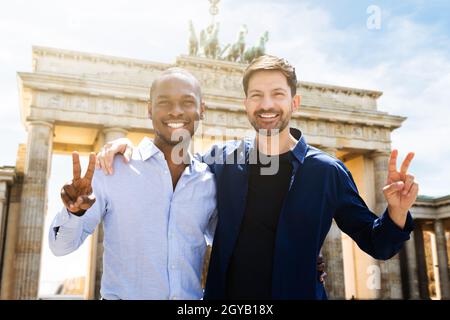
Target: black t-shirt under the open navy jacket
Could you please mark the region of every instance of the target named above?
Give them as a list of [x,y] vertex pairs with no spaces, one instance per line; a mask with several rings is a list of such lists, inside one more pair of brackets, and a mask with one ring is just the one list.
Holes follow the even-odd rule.
[[247,205],[228,267],[228,299],[272,298],[275,235],[289,190],[292,154],[289,151],[273,157],[279,157],[279,170],[274,175],[261,174],[261,168],[270,166],[268,156],[249,164]]

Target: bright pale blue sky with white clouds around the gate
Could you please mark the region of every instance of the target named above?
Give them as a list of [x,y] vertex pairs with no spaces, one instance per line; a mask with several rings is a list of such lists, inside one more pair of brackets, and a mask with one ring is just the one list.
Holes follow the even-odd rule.
[[[208,9],[207,0],[2,1],[0,166],[14,165],[26,142],[17,72],[31,71],[33,45],[173,63],[188,51],[188,21],[199,32]],[[449,11],[448,1],[432,0],[222,0],[216,19],[221,44],[233,42],[242,24],[248,45],[269,31],[267,53],[287,58],[302,81],[383,91],[379,110],[408,118],[392,146],[400,159],[416,153],[410,171],[420,194],[437,197],[450,194]],[[374,12],[379,23],[368,24]],[[68,161],[53,158],[46,231],[70,179]],[[43,293],[55,279],[85,272],[86,248],[64,258],[44,252]]]

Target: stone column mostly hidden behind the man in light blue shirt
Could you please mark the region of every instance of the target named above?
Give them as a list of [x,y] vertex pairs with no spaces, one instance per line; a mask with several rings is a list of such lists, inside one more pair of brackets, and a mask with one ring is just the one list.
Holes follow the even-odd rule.
[[[103,129],[103,141],[110,142],[118,138],[124,138],[127,136],[128,131],[122,128],[106,128]],[[92,235],[93,246],[91,248],[92,253],[95,253],[95,266],[91,268],[95,270],[95,289],[94,298],[100,299],[100,285],[103,273],[103,223],[99,224],[94,234]]]

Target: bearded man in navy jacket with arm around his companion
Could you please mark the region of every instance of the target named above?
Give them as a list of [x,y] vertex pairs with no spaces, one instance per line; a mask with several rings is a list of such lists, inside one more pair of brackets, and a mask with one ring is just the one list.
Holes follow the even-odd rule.
[[[256,138],[214,146],[202,157],[216,176],[219,215],[205,299],[326,299],[316,257],[333,219],[376,259],[391,258],[409,239],[409,209],[418,194],[408,173],[414,154],[397,171],[398,152],[392,151],[383,189],[388,206],[378,217],[345,165],[290,127],[300,96],[286,60],[255,59],[243,86]],[[98,165],[112,173],[111,154],[130,147],[124,140],[109,144]],[[276,170],[264,174],[272,163]]]

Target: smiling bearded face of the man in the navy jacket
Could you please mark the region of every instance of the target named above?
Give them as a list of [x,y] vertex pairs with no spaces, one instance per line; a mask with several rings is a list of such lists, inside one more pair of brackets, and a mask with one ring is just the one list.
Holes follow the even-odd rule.
[[246,93],[248,119],[255,130],[267,130],[267,135],[285,130],[300,103],[300,97],[292,96],[286,76],[278,70],[252,73]]

